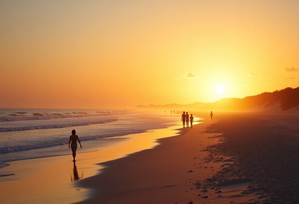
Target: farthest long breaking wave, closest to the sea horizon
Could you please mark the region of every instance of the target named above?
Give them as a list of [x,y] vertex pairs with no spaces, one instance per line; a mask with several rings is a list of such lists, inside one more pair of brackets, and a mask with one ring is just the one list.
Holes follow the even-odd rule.
[[[75,113],[74,114],[79,114]],[[36,113],[34,113],[36,114]],[[38,113],[39,114],[39,113]],[[0,122],[7,121],[19,121],[19,120],[51,120],[58,118],[81,118],[81,117],[91,117],[91,116],[103,116],[103,115],[123,115],[130,114],[129,112],[117,112],[117,113],[100,113],[100,114],[86,114],[86,115],[48,115],[48,116],[19,116],[19,117],[0,117]]]

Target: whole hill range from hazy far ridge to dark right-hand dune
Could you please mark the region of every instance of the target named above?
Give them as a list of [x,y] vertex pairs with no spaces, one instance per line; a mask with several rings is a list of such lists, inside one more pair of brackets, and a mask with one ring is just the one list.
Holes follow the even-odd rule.
[[200,111],[242,111],[242,112],[296,112],[299,113],[299,86],[287,87],[274,92],[264,92],[245,98],[222,98],[214,103],[196,102],[187,105],[166,104],[139,105],[143,110],[200,110]]

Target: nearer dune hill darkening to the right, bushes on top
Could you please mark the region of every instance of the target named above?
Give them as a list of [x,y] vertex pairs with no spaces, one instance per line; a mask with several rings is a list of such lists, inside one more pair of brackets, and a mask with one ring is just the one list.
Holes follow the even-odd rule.
[[281,112],[295,110],[299,112],[299,87],[287,87],[274,92],[264,92],[245,98],[222,98],[219,101],[202,106],[200,110],[211,111],[251,111]]

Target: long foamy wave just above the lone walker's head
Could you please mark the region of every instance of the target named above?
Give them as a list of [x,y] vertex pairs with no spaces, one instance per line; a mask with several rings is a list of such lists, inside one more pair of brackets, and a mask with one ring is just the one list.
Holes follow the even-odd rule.
[[12,132],[12,131],[23,131],[23,130],[35,130],[35,129],[51,129],[51,128],[64,128],[64,127],[74,127],[74,126],[86,126],[93,124],[102,124],[102,123],[111,123],[119,121],[119,119],[110,119],[103,121],[95,122],[85,122],[85,123],[74,123],[74,124],[65,124],[65,125],[39,125],[39,126],[28,126],[28,127],[11,127],[11,128],[0,128],[0,132]]

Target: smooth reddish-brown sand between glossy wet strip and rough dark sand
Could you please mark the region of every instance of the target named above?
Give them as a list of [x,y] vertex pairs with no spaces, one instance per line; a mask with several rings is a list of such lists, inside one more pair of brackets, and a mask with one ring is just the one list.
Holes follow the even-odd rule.
[[[78,187],[90,189],[89,197],[78,204],[192,201],[194,192],[190,188],[194,188],[195,180],[204,180],[212,176],[214,170],[220,168],[220,164],[213,165],[213,169],[205,168],[204,163],[197,169],[194,165],[194,160],[203,160],[208,156],[208,152],[201,151],[202,149],[218,143],[217,138],[209,138],[214,135],[213,133],[202,132],[208,125],[206,122],[199,123],[193,125],[192,129],[190,127],[183,129],[180,126],[177,129],[180,131],[179,135],[158,139],[160,145],[153,149],[145,149],[128,157],[99,163],[98,165],[105,166],[101,174],[77,183]],[[199,145],[187,141],[187,145],[192,147],[186,149],[184,146],[186,138],[192,140],[194,133],[198,137],[195,139],[198,139]],[[191,181],[193,171],[197,171],[198,177]],[[150,199],[151,197],[156,199]]]

